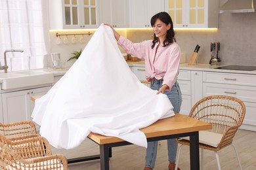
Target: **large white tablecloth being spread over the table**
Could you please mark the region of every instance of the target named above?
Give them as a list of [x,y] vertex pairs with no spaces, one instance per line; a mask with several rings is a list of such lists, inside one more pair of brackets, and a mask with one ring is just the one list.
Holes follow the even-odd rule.
[[69,71],[35,101],[33,121],[56,148],[74,148],[92,131],[147,146],[140,128],[174,116],[164,94],[131,72],[110,27],[102,24]]

